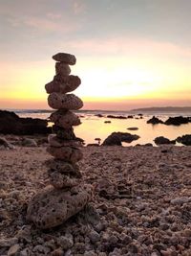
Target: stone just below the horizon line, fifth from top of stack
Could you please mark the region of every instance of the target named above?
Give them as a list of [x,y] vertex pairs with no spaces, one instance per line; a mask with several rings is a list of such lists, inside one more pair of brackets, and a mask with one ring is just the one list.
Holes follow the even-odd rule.
[[50,116],[50,121],[61,128],[72,128],[81,124],[80,119],[71,111],[59,109]]

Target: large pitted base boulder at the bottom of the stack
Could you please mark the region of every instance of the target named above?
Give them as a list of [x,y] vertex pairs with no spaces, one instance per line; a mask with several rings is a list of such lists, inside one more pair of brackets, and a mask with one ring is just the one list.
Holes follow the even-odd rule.
[[27,220],[41,229],[60,225],[82,210],[91,198],[91,185],[80,184],[67,191],[47,187],[32,198]]

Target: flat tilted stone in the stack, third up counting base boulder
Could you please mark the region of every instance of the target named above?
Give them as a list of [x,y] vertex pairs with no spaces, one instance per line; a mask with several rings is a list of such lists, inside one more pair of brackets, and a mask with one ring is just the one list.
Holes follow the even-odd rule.
[[59,159],[49,159],[45,162],[46,166],[52,170],[52,172],[59,172],[63,175],[73,175],[75,177],[81,177],[79,166],[77,164],[71,164]]

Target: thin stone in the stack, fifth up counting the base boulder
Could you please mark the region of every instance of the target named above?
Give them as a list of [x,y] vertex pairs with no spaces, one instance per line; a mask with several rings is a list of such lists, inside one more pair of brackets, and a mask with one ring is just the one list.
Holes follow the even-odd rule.
[[48,142],[52,147],[55,148],[60,148],[60,147],[80,147],[81,143],[79,141],[76,140],[63,140],[58,138],[56,135],[54,134],[50,134],[48,136]]

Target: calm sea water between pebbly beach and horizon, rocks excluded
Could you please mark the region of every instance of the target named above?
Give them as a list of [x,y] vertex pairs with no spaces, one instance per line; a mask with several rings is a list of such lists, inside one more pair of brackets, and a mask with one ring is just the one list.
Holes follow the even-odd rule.
[[[14,110],[20,117],[32,117],[48,119],[51,110]],[[159,117],[162,121],[168,119],[169,116],[187,116],[187,113],[143,113],[142,118],[137,114],[128,111],[102,111],[102,110],[80,110],[76,114],[80,116],[81,125],[74,128],[75,135],[84,140],[85,144],[97,143],[96,138],[100,138],[101,142],[114,131],[130,132],[131,134],[138,134],[140,137],[138,140],[132,143],[123,143],[123,146],[135,146],[137,144],[152,143],[155,146],[154,139],[158,136],[164,136],[170,140],[174,140],[179,136],[185,134],[191,134],[191,123],[186,125],[166,126],[166,125],[151,125],[146,122],[153,116]],[[97,114],[103,115],[103,117],[97,117]],[[115,116],[128,116],[134,115],[134,118],[128,119],[113,119],[107,118],[107,115]],[[111,121],[106,124],[105,121]],[[53,124],[49,124],[52,126]],[[127,128],[136,127],[138,130],[128,130]],[[180,145],[177,143],[177,145]]]

